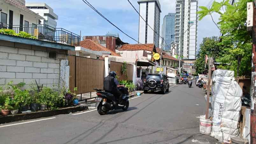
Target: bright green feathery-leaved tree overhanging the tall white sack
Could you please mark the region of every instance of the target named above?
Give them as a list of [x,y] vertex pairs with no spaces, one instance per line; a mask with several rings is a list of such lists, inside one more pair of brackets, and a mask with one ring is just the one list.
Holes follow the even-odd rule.
[[[223,36],[220,38],[219,47],[223,48],[221,57],[216,58],[228,70],[235,71],[236,75],[250,75],[251,72],[251,43],[252,37],[246,31],[246,3],[253,0],[238,0],[234,5],[229,0],[218,3],[214,1],[210,8],[200,6],[198,11],[199,20],[210,15],[212,21]],[[212,17],[213,13],[219,14],[216,23]]]

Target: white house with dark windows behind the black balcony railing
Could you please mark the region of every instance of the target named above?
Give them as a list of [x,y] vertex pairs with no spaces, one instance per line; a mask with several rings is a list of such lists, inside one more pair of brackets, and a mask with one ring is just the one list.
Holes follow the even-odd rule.
[[39,19],[43,19],[25,7],[25,0],[0,0],[0,13],[0,28],[9,28],[16,32],[28,32],[28,25],[39,24]]

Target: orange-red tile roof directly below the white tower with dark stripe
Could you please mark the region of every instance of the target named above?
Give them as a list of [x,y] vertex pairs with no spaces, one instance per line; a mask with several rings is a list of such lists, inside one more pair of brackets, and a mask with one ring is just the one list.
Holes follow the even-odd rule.
[[129,44],[129,45],[122,45],[118,51],[139,51],[139,50],[146,50],[146,51],[153,51],[154,44]]

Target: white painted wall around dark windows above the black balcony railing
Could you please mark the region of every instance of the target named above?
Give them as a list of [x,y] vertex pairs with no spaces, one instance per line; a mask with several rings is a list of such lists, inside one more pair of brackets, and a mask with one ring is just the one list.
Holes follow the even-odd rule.
[[[19,25],[20,14],[23,15],[23,24],[24,24],[24,21],[28,21],[29,24],[32,24],[32,23],[38,24],[38,20],[39,20],[38,16],[28,13],[24,10],[18,9],[7,3],[4,3],[3,0],[0,0],[0,8],[2,9],[0,13],[4,12],[7,14],[7,24],[9,24],[9,10],[13,11],[13,25]],[[1,18],[1,15],[0,15],[0,18]]]

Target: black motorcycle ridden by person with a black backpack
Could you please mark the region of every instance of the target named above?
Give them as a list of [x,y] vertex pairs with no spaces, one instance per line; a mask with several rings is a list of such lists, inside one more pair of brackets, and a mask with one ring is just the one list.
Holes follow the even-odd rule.
[[129,107],[129,93],[127,88],[121,87],[119,88],[120,92],[122,93],[123,96],[123,101],[121,105],[123,106],[118,106],[118,99],[116,97],[109,93],[105,92],[101,89],[94,89],[97,91],[97,98],[95,99],[97,107],[97,111],[100,115],[107,114],[108,111],[112,111],[115,109],[123,109],[124,111],[128,109]]

